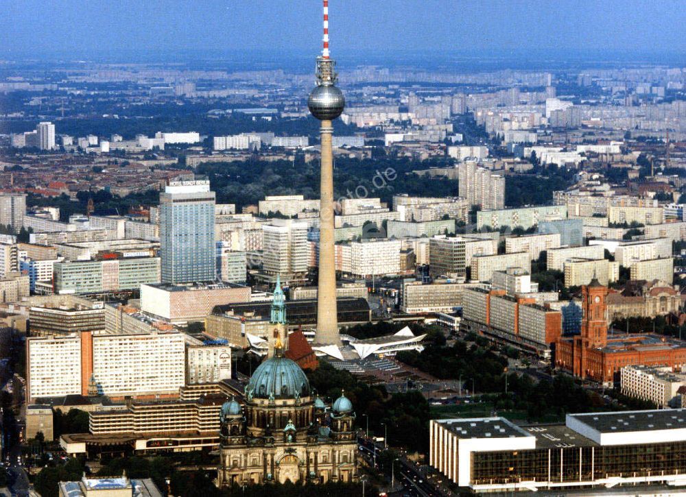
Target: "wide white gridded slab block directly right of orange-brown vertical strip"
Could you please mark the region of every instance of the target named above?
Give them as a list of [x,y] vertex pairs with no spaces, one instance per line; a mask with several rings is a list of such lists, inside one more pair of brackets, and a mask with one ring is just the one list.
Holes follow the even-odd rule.
[[93,377],[103,395],[176,396],[185,366],[183,333],[93,335]]

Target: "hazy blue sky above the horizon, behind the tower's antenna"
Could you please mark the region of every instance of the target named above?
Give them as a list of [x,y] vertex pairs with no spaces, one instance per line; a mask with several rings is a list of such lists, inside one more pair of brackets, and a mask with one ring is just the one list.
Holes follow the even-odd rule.
[[[331,49],[686,52],[684,0],[331,0]],[[0,0],[0,56],[320,47],[320,0]]]

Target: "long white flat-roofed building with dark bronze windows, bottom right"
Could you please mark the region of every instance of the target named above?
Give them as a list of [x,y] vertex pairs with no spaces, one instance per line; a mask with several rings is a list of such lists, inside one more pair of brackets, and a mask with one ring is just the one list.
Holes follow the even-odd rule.
[[648,485],[645,492],[667,495],[686,484],[685,449],[683,409],[567,414],[565,424],[540,426],[501,417],[429,422],[429,464],[477,494]]

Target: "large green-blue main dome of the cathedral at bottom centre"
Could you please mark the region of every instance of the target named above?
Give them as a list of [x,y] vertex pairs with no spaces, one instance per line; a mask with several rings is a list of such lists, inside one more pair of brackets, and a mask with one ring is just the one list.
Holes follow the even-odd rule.
[[309,380],[303,369],[294,361],[276,355],[255,369],[248,383],[248,392],[254,398],[268,399],[309,396]]

